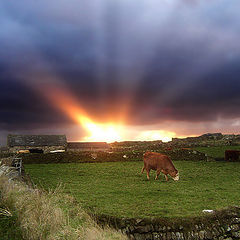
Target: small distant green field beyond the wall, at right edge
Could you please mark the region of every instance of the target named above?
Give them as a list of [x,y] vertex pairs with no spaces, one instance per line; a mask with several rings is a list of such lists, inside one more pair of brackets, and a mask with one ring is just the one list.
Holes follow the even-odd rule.
[[240,150],[240,146],[195,147],[194,149],[213,158],[224,158],[226,150]]

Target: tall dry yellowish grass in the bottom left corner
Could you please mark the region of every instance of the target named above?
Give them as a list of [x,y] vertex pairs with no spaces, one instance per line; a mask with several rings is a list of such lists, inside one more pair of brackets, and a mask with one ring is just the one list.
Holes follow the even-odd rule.
[[1,202],[14,209],[24,239],[77,240],[126,239],[112,229],[100,228],[72,197],[55,191],[29,188],[22,182],[0,177]]

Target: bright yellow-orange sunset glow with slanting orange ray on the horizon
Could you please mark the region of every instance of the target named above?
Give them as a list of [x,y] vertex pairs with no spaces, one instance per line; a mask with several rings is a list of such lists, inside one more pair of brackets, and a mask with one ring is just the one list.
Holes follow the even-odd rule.
[[[83,141],[104,141],[114,142],[123,141],[127,139],[135,139],[140,141],[162,140],[164,142],[171,141],[175,137],[174,132],[151,130],[151,131],[138,131],[131,134],[131,127],[124,127],[122,119],[120,124],[109,123],[96,123],[91,119],[83,108],[78,104],[78,100],[73,95],[61,86],[48,83],[46,88],[39,88],[39,91],[52,102],[52,104],[67,114],[72,120],[79,124],[88,132]],[[126,110],[125,110],[126,111]],[[125,113],[126,114],[126,113]],[[134,128],[134,127],[133,127]],[[139,134],[140,132],[140,134]],[[136,137],[136,135],[138,135]]]

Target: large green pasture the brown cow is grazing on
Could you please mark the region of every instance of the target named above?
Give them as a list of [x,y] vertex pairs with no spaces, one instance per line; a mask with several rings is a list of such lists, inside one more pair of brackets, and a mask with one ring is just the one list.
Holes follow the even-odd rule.
[[180,181],[140,174],[142,162],[31,164],[25,169],[45,189],[64,192],[87,210],[117,217],[199,216],[203,209],[240,205],[240,163],[174,163]]

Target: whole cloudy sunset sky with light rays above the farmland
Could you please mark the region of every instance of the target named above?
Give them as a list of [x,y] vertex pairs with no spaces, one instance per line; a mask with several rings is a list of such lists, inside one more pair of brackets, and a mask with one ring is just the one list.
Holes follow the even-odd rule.
[[0,1],[0,144],[239,134],[239,10],[238,0]]

